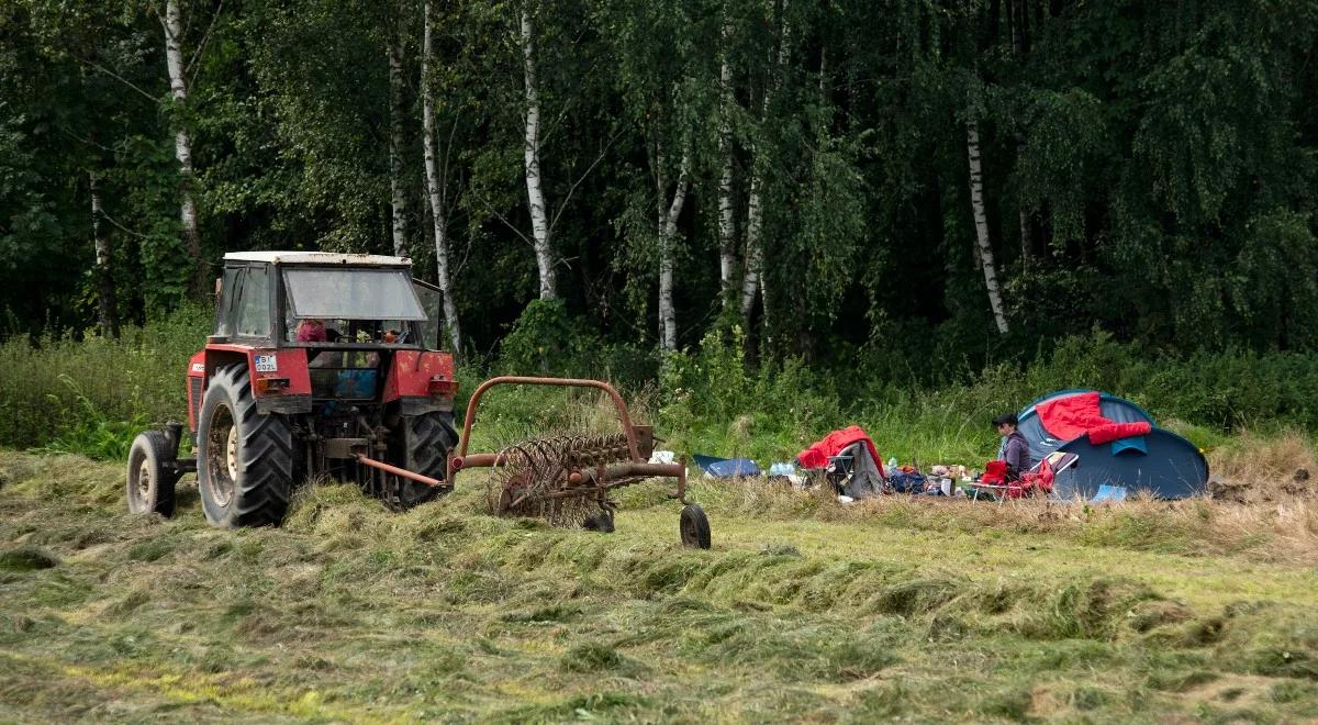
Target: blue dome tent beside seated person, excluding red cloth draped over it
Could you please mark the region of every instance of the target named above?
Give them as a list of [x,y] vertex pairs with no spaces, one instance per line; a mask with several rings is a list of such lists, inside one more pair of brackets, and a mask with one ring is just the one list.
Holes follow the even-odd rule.
[[1143,407],[1108,393],[1099,393],[1099,413],[1114,423],[1149,423],[1148,435],[1093,444],[1081,435],[1068,440],[1053,438],[1039,415],[1037,406],[1091,390],[1058,390],[1039,398],[1020,411],[1020,432],[1029,442],[1037,461],[1054,451],[1079,456],[1074,465],[1057,475],[1053,493],[1061,498],[1091,500],[1101,486],[1114,486],[1120,494],[1149,492],[1159,498],[1188,498],[1203,493],[1209,463],[1189,440],[1159,428]]

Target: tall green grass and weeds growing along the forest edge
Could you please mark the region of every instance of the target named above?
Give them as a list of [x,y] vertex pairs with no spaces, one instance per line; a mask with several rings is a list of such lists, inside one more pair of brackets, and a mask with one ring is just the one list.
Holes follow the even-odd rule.
[[[187,359],[208,326],[208,311],[188,308],[125,328],[117,340],[45,335],[0,343],[0,446],[113,457],[141,427],[183,419]],[[1126,395],[1201,447],[1247,428],[1318,431],[1318,360],[1296,353],[1156,356],[1093,334],[1062,339],[1028,365],[996,364],[933,386],[880,373],[894,369],[891,349],[858,353],[845,368],[792,359],[751,366],[745,337],[733,328],[652,365],[633,345],[594,337],[536,347],[544,326],[532,327],[518,328],[502,357],[464,360],[459,417],[488,374],[547,373],[613,380],[668,448],[760,463],[791,460],[829,430],[853,423],[873,435],[884,457],[977,463],[995,450],[994,415],[1065,388]],[[477,438],[490,447],[563,430],[581,423],[579,409],[594,406],[593,398],[563,390],[492,392]]]

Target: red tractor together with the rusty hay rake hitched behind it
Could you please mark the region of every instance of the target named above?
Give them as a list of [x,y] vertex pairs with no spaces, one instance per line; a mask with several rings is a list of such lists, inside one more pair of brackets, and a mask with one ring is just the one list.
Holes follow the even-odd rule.
[[[196,457],[178,457],[181,423],[138,435],[128,456],[129,510],[173,515],[174,485],[191,471],[216,526],[278,525],[294,485],[308,477],[356,481],[387,506],[410,509],[452,490],[459,471],[482,467],[496,469],[486,489],[501,515],[612,530],[609,493],[654,477],[676,478],[670,497],[688,504],[685,463],[650,463],[652,430],[633,426],[622,397],[601,381],[485,381],[451,455],[453,357],[428,349],[440,332],[439,290],[413,279],[410,266],[372,254],[225,254],[215,327],[187,369]],[[496,385],[600,390],[622,430],[468,453],[476,407]],[[709,547],[700,506],[687,505],[679,530],[688,546]]]

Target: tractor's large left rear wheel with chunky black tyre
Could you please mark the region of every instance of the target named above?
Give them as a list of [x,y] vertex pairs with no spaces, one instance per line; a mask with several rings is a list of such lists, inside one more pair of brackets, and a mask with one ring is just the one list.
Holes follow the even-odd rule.
[[278,526],[293,492],[293,426],[262,415],[246,365],[216,370],[196,428],[196,488],[206,519],[228,529]]

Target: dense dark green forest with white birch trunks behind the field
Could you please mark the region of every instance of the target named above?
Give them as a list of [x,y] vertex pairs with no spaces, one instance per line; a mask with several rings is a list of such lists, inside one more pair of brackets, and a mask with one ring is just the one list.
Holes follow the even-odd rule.
[[[0,336],[237,249],[775,357],[1318,345],[1313,0],[4,0]],[[1024,352],[1023,352],[1024,351]],[[925,355],[925,352],[920,352]]]

